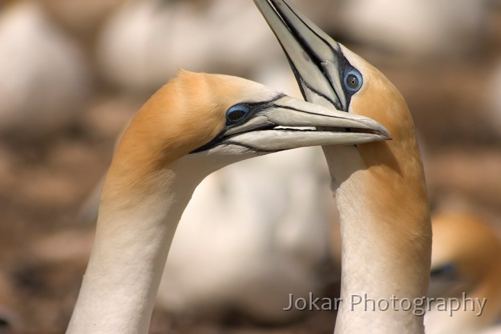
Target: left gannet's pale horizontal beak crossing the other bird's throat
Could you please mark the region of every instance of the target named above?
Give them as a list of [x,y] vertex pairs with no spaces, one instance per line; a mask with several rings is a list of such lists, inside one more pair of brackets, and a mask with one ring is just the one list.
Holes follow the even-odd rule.
[[283,95],[244,124],[228,129],[218,140],[223,145],[239,145],[255,152],[276,152],[305,146],[354,145],[388,138],[390,135],[385,127],[370,118]]

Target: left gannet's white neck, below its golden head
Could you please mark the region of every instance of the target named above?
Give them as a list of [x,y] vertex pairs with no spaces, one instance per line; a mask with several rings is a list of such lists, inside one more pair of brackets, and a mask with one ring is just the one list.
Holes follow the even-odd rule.
[[203,178],[164,168],[134,182],[120,175],[120,168],[112,163],[106,177],[95,241],[67,333],[148,333],[177,223]]

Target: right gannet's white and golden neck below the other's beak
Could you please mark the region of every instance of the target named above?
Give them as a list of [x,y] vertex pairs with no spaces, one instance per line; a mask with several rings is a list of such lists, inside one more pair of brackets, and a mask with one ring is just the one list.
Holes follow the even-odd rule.
[[[422,315],[413,313],[427,292],[431,257],[424,175],[417,143],[412,168],[395,159],[391,145],[324,148],[340,212],[338,334],[424,333]],[[383,154],[367,161],[362,147]]]

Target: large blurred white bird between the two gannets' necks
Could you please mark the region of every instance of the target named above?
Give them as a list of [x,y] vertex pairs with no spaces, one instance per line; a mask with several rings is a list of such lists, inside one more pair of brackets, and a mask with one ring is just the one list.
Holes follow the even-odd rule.
[[320,295],[339,279],[323,277],[330,203],[328,178],[319,176],[324,161],[317,150],[300,150],[224,168],[198,186],[166,262],[161,309],[206,319],[231,310],[278,324],[304,316],[283,310],[289,294]]

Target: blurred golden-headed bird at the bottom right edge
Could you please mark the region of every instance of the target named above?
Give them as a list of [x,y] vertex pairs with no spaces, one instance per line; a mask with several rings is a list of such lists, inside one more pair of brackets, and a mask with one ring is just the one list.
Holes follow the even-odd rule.
[[[482,218],[472,214],[442,213],[433,217],[433,251],[431,254],[431,297],[454,297],[462,301],[479,299],[486,303],[481,316],[475,302],[461,305],[447,303],[449,312],[427,312],[427,334],[477,334],[501,319],[501,240]],[[443,306],[442,306],[443,308]],[[498,328],[501,333],[501,328]],[[495,332],[492,332],[495,333]]]

